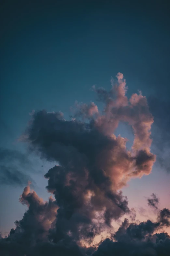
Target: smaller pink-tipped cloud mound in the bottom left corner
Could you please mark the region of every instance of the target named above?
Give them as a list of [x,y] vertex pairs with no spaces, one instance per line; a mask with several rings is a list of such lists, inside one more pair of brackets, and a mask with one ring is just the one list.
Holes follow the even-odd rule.
[[50,197],[44,202],[30,190],[30,184],[24,188],[20,202],[27,205],[28,210],[20,221],[15,222],[16,228],[11,229],[9,236],[1,239],[2,255],[29,255],[37,243],[48,242],[51,224],[56,219],[56,201]]

